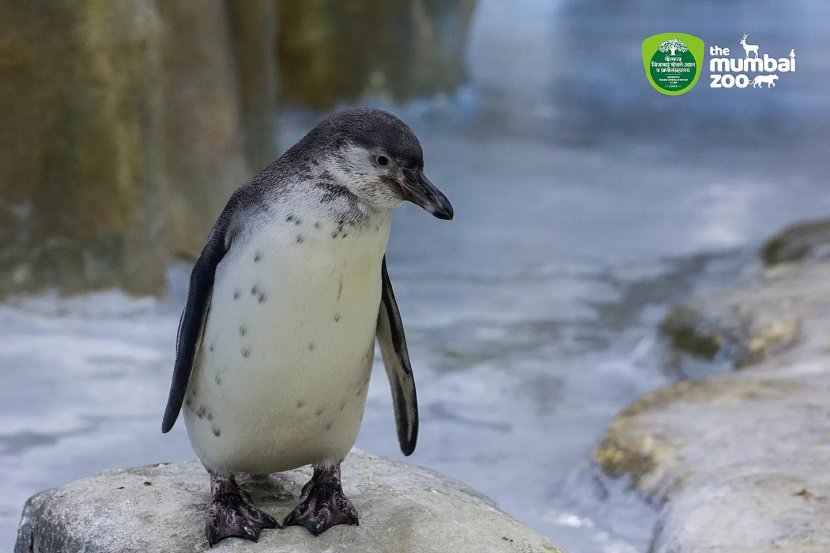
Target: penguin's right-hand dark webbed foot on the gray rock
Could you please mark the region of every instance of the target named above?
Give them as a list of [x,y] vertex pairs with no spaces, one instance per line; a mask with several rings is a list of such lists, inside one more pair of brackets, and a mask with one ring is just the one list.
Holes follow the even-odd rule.
[[343,495],[339,463],[332,468],[314,468],[314,476],[303,486],[300,504],[285,517],[284,524],[305,526],[315,536],[337,524],[358,526],[357,511]]

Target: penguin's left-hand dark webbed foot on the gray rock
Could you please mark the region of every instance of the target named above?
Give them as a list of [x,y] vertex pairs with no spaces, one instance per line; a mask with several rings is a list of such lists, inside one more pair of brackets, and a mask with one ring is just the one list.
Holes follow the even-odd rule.
[[231,537],[255,542],[263,528],[279,527],[273,517],[251,505],[247,494],[243,497],[233,476],[210,473],[210,491],[213,501],[208,507],[205,535],[211,547]]

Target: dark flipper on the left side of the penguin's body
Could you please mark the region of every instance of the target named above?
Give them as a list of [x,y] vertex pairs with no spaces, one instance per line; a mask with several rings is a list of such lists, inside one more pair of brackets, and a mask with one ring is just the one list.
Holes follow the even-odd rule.
[[190,273],[187,303],[179,320],[179,333],[176,338],[176,364],[173,368],[173,381],[170,384],[170,395],[167,398],[167,407],[161,421],[161,431],[165,433],[173,428],[184,402],[190,372],[193,370],[196,352],[199,343],[202,341],[202,331],[207,320],[210,299],[213,294],[216,266],[225,257],[230,247],[229,228],[233,220],[235,205],[236,202],[232,197],[216,224],[213,225],[207,244],[205,244],[199,259],[193,266],[193,271]]

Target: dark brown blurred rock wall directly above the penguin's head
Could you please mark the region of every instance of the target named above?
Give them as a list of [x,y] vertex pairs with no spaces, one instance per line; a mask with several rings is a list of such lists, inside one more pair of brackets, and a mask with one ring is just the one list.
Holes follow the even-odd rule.
[[449,94],[466,78],[464,47],[475,5],[279,2],[282,101],[327,109],[367,95],[400,102]]

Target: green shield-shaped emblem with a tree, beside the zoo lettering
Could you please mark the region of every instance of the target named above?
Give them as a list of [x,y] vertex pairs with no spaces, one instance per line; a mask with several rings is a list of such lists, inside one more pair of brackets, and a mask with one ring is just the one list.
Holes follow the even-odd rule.
[[657,92],[677,96],[690,91],[703,67],[703,41],[685,33],[662,33],[643,41],[646,78]]

